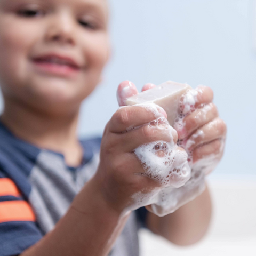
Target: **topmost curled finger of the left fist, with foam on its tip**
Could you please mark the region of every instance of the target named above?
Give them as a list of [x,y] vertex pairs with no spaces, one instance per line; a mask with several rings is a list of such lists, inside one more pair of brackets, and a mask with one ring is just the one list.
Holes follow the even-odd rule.
[[108,123],[108,128],[110,132],[124,132],[165,116],[164,109],[157,105],[126,106],[116,111]]

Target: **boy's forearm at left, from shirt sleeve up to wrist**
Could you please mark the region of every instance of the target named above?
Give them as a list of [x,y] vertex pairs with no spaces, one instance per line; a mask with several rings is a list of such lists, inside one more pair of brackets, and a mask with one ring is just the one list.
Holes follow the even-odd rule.
[[105,256],[128,217],[111,209],[89,181],[54,230],[21,256]]

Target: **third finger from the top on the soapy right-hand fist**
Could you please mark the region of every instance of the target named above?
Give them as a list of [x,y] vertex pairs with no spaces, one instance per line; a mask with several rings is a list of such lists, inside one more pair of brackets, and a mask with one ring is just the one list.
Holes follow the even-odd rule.
[[185,148],[191,151],[199,145],[209,143],[213,140],[224,138],[227,132],[225,122],[219,117],[205,124],[194,132],[185,143]]

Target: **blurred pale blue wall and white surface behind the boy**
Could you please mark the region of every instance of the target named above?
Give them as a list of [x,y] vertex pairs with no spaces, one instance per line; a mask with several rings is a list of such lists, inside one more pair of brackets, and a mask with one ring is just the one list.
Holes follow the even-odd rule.
[[[208,177],[209,234],[182,249],[141,230],[142,256],[256,255],[256,0],[109,0],[112,55],[82,107],[81,137],[101,135],[128,79],[212,87],[228,126],[225,156]],[[92,121],[93,120],[93,121]]]

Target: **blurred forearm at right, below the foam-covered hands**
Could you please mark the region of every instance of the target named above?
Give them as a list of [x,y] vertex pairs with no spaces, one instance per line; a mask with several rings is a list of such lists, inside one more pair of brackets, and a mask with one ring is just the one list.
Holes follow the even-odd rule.
[[206,189],[202,195],[165,217],[148,214],[148,227],[174,244],[190,245],[201,239],[211,220],[211,198]]

